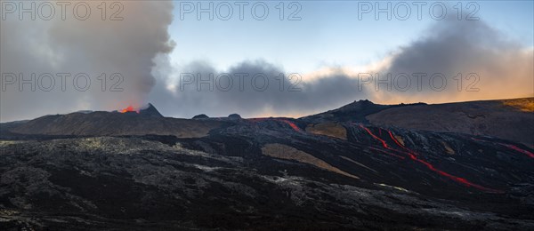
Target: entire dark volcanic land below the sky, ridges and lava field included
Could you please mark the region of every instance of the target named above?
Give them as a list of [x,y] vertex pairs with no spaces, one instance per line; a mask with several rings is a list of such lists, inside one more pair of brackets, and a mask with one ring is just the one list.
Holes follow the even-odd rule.
[[[457,111],[495,118],[501,110],[501,124],[532,123],[528,104],[498,102]],[[427,116],[419,107],[452,106],[360,100],[300,119],[185,120],[150,109],[2,123],[0,227],[534,229],[534,136],[461,130],[480,123],[441,115],[421,123],[465,124],[384,122],[406,108]]]

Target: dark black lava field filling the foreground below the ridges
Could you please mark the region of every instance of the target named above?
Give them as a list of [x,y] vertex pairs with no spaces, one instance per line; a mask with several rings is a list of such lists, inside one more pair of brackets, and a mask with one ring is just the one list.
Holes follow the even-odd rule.
[[[255,136],[239,139],[232,132],[244,137],[254,132]],[[2,141],[0,227],[534,228],[528,189],[534,180],[528,156],[506,147],[490,151],[490,143],[484,141],[473,140],[473,147],[463,147],[456,143],[456,135],[433,134],[434,139],[449,140],[457,153],[425,152],[421,158],[441,171],[484,186],[469,187],[425,164],[383,153],[387,149],[372,137],[368,139],[366,132],[349,127],[349,140],[331,139],[294,130],[284,122],[262,121],[215,131],[201,139],[144,136]],[[431,134],[404,135],[408,147],[408,139],[433,142],[428,137]],[[388,145],[392,142],[387,141]],[[276,158],[263,153],[271,147],[265,144],[292,147],[301,153],[286,158],[287,150],[282,148]],[[466,149],[460,151],[457,146]],[[486,164],[483,156],[470,156],[472,151],[499,158],[501,163]],[[299,158],[306,156],[303,153],[328,165]],[[436,156],[446,160],[434,160]],[[509,164],[517,165],[513,169]]]

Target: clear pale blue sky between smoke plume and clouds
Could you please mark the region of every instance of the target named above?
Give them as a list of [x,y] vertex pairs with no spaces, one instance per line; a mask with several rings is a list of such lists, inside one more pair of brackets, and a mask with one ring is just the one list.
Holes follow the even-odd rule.
[[[453,6],[457,1],[444,2]],[[190,2],[197,4],[198,2]],[[202,2],[207,6],[209,2]],[[220,2],[213,2],[216,6]],[[423,6],[422,20],[417,20],[417,6],[410,5],[409,20],[387,20],[380,14],[375,20],[371,13],[358,19],[357,1],[301,1],[297,16],[302,20],[279,20],[279,1],[265,1],[270,10],[265,20],[255,20],[248,2],[244,20],[239,20],[239,6],[232,4],[231,20],[209,20],[207,13],[198,20],[196,12],[183,14],[180,19],[180,4],[174,4],[174,22],[170,34],[176,42],[172,62],[180,66],[193,60],[209,61],[214,67],[225,69],[243,60],[263,59],[283,67],[287,72],[310,72],[326,66],[364,66],[383,59],[410,41],[425,36],[425,29],[433,20],[428,3]],[[288,9],[284,2],[285,18],[296,8]],[[361,2],[360,2],[361,3]],[[375,4],[374,1],[368,3]],[[379,2],[385,6],[387,2]],[[391,2],[392,6],[398,2]],[[469,2],[462,2],[465,12]],[[481,1],[475,14],[490,26],[519,41],[525,47],[532,47],[534,40],[532,1]],[[186,7],[182,4],[182,8]],[[221,8],[221,13],[226,13]],[[438,12],[439,8],[436,8]],[[195,9],[197,10],[197,9]],[[399,8],[403,13],[402,8]],[[261,13],[261,8],[258,8]],[[457,12],[448,12],[456,15]]]

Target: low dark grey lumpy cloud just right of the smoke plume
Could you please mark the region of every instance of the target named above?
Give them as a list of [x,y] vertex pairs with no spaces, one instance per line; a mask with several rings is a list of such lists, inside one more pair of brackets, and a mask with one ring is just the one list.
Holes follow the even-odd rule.
[[[214,83],[213,91],[208,84],[201,84],[198,89],[197,81],[183,84],[184,81],[190,83],[185,76],[179,77],[184,74],[200,75],[203,80],[214,74],[210,81]],[[227,76],[218,81],[217,76],[221,74],[231,76],[231,81]],[[248,76],[240,77],[239,74]],[[257,74],[263,77],[255,79]],[[283,89],[280,89],[280,74],[284,74]],[[312,81],[306,81],[305,76],[299,78],[291,74],[264,60],[247,60],[226,71],[198,61],[179,71],[174,70],[176,78],[159,83],[150,100],[156,102],[163,113],[174,116],[228,116],[232,113],[241,116],[302,116],[342,106],[364,95],[358,91],[357,80],[341,72]],[[264,84],[265,80],[268,85]],[[233,83],[231,87],[230,82]],[[174,89],[167,89],[167,84],[174,85]]]

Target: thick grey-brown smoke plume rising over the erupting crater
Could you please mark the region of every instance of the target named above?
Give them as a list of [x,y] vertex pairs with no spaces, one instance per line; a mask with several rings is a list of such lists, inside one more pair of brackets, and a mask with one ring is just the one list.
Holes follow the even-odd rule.
[[[14,3],[24,3],[28,7],[31,2],[34,1]],[[29,84],[24,85],[23,91],[19,90],[19,83],[6,85],[6,91],[1,92],[0,97],[0,120],[6,122],[81,109],[113,110],[146,103],[146,97],[156,83],[151,75],[155,66],[153,59],[159,53],[173,49],[167,33],[173,20],[173,3],[123,1],[120,2],[122,11],[114,14],[118,6],[111,7],[107,2],[105,20],[101,19],[98,8],[101,2],[84,2],[91,9],[86,20],[74,17],[73,7],[77,1],[69,2],[66,20],[61,20],[60,6],[50,3],[55,6],[52,20],[39,17],[31,20],[29,13],[19,20],[19,13],[15,12],[7,14],[0,22],[0,72],[21,73],[27,79],[35,73],[36,81],[44,73],[55,76],[55,86],[49,92],[38,87],[34,92]],[[36,1],[36,4],[40,2]],[[110,20],[114,16],[123,19]],[[61,78],[56,76],[58,73],[72,75],[67,77],[65,89],[61,87]],[[87,74],[91,80],[85,92],[74,87],[74,76],[79,73]],[[98,79],[102,73],[108,78],[105,91]],[[110,78],[114,73],[123,76],[124,81],[117,84],[118,77]],[[85,86],[83,80],[78,82],[81,88]],[[44,88],[50,84],[44,79]],[[109,91],[113,84],[117,84],[113,90],[119,92]]]

